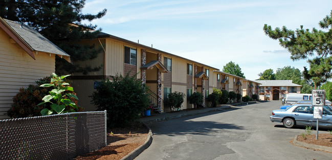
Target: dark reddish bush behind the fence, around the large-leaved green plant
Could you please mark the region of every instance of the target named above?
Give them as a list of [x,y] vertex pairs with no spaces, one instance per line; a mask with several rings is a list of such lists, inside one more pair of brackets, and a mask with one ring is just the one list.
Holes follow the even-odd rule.
[[[68,80],[64,80],[64,82],[69,83]],[[19,92],[13,97],[12,107],[7,111],[8,116],[11,118],[41,116],[40,111],[42,109],[51,108],[50,104],[37,106],[40,102],[42,102],[42,98],[54,89],[54,87],[39,87],[45,83],[51,83],[51,76],[38,79],[38,81],[36,81],[37,85],[29,85],[28,88],[20,88]],[[73,91],[65,91],[65,93],[75,94]],[[74,98],[72,99],[72,101],[77,105],[77,100],[75,100]],[[54,101],[51,102],[54,103]],[[66,110],[68,109],[70,108],[66,108]],[[82,110],[84,109],[79,107],[79,110],[76,111]]]

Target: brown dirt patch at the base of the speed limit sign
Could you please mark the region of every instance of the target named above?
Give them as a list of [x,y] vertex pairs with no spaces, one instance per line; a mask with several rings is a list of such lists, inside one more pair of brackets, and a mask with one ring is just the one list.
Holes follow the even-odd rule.
[[299,135],[297,137],[297,141],[307,144],[332,147],[332,134],[318,134],[318,139],[316,139],[316,134],[305,136],[306,137],[302,137]]

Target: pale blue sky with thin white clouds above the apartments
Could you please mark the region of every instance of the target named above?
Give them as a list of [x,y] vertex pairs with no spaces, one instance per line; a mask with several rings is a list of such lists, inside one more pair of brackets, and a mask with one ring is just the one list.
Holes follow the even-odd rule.
[[278,41],[266,36],[264,24],[320,29],[332,1],[87,0],[82,12],[104,8],[106,15],[91,23],[105,33],[220,70],[232,61],[254,80],[270,68],[308,67],[306,60],[293,62]]

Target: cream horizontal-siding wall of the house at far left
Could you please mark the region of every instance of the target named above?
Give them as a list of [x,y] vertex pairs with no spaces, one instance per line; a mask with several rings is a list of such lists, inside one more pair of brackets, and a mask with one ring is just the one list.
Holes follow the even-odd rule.
[[9,36],[0,29],[0,119],[13,103],[19,88],[27,88],[40,78],[55,72],[55,55],[38,52],[34,60],[17,44],[9,42]]

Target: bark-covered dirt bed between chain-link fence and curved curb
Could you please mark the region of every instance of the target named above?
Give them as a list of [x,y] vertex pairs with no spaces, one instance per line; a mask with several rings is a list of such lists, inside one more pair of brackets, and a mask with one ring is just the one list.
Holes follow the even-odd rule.
[[148,136],[148,130],[141,123],[131,127],[113,128],[107,130],[107,146],[73,159],[121,159],[131,151],[143,145]]

